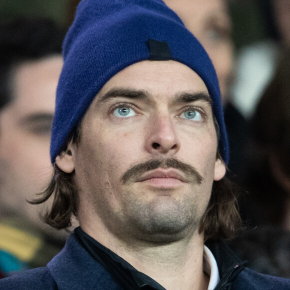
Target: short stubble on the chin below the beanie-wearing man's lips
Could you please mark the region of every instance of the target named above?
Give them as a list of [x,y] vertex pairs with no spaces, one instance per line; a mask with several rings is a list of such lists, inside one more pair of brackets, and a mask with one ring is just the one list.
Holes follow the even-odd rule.
[[[194,186],[192,186],[194,187]],[[127,190],[127,224],[132,234],[153,242],[169,242],[191,236],[198,230],[200,219],[206,204],[200,204],[194,188],[184,193],[181,200],[170,194],[158,195],[149,202],[136,197],[134,192]],[[196,188],[195,188],[196,190]],[[142,193],[141,193],[142,194]]]

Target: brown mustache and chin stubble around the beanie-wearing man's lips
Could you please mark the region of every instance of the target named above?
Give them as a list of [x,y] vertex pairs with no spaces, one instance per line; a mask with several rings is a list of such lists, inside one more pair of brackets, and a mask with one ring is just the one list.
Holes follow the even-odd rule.
[[[135,192],[139,190],[130,187],[136,184],[135,181],[143,173],[159,167],[171,167],[182,171],[187,178],[187,184],[190,184],[189,188],[151,188],[156,192],[146,200],[148,192]],[[127,227],[135,229],[132,230],[132,234],[151,241],[168,241],[198,229],[206,205],[202,204],[205,201],[198,200],[198,196],[201,196],[198,191],[203,187],[203,177],[192,165],[173,157],[145,160],[126,170],[120,181],[126,186],[124,215],[127,216]]]

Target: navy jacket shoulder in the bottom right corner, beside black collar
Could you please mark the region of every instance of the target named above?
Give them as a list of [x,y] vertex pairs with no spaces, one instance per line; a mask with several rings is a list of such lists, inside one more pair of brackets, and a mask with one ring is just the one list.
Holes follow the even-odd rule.
[[233,289],[242,290],[289,290],[290,279],[260,274],[244,268],[233,282]]

